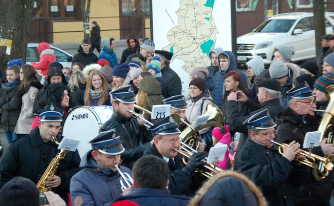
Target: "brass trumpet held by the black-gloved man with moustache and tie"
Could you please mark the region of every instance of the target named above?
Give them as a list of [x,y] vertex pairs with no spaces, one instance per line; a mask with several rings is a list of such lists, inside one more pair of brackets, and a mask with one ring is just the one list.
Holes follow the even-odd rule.
[[[184,157],[188,157],[190,158],[191,155],[193,155],[194,153],[196,153],[197,151],[194,150],[193,148],[189,147],[186,143],[183,143],[182,141],[180,141],[180,149],[174,149],[174,151],[177,151],[178,153],[180,153],[181,155],[183,155],[182,161],[184,164],[187,164],[187,162],[185,161]],[[182,151],[183,150],[183,151]],[[208,158],[204,158],[201,161],[207,162]],[[221,172],[222,170],[220,168],[218,168],[218,166],[216,164],[205,164],[205,166],[203,166],[205,169],[198,169],[195,172],[199,172],[201,173],[203,176],[206,176],[208,178],[212,177],[215,173],[217,172]]]

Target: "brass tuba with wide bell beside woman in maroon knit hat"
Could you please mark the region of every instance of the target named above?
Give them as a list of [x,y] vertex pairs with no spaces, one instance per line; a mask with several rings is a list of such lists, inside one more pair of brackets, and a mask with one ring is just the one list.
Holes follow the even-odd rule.
[[192,126],[194,122],[192,122],[180,134],[180,140],[193,149],[195,149],[198,146],[198,142],[200,141],[200,137],[197,135],[197,132],[199,130],[210,126],[215,126],[218,128],[224,126],[224,117],[222,116],[222,113],[219,110],[219,108],[215,106],[213,103],[209,103],[207,105],[207,111],[203,115],[207,114],[210,114],[207,123],[200,125],[196,128],[193,128]]

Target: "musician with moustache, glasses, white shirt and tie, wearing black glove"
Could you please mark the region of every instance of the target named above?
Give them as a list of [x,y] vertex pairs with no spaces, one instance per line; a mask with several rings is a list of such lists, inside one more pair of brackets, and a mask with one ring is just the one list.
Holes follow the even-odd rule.
[[180,130],[177,128],[177,123],[171,116],[164,118],[160,122],[149,128],[152,136],[154,137],[154,144],[150,148],[147,148],[144,155],[154,155],[162,158],[168,163],[170,169],[169,185],[168,189],[172,195],[187,195],[191,196],[197,190],[192,183],[195,170],[206,162],[201,161],[206,157],[204,152],[198,152],[193,154],[189,160],[187,166],[183,167],[181,159],[178,157],[177,150],[180,149]]

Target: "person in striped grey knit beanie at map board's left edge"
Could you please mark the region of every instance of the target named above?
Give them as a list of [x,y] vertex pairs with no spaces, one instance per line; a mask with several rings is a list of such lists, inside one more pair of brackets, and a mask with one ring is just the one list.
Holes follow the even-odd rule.
[[136,53],[129,55],[126,58],[125,63],[129,64],[131,61],[136,60],[140,62],[141,68],[143,71],[147,70],[147,66],[149,66],[155,50],[155,44],[153,40],[146,39],[143,44],[140,45],[140,49],[136,51]]

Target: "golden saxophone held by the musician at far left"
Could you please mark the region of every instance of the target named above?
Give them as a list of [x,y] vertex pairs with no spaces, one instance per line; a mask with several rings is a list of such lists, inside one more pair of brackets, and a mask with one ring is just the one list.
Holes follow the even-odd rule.
[[[54,141],[55,143],[57,143],[57,145],[60,145],[60,143],[57,141],[57,139],[53,136],[51,137],[51,141]],[[68,150],[61,150],[60,153],[58,153],[51,160],[51,162],[50,162],[48,168],[46,169],[46,171],[44,172],[42,178],[40,179],[40,181],[36,185],[38,190],[40,191],[40,193],[44,193],[46,191],[51,190],[51,187],[46,187],[46,183],[51,177],[53,177],[55,171],[59,167],[60,160],[65,157],[66,153],[68,153]]]

